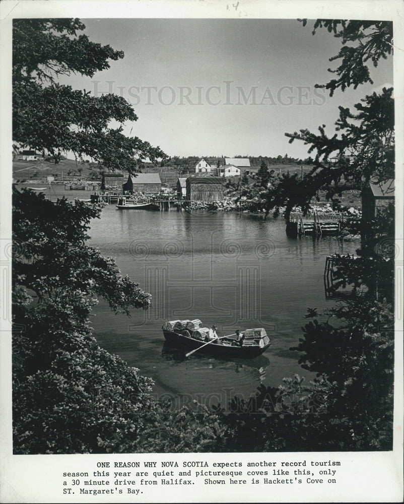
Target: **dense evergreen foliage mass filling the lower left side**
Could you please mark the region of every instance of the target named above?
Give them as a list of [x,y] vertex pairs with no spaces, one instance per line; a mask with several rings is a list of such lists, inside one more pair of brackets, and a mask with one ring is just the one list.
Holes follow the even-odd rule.
[[13,197],[15,452],[102,452],[123,436],[133,442],[139,411],[152,407],[152,381],[98,347],[89,316],[98,297],[130,314],[150,307],[151,296],[86,244],[100,208],[54,204],[29,190]]

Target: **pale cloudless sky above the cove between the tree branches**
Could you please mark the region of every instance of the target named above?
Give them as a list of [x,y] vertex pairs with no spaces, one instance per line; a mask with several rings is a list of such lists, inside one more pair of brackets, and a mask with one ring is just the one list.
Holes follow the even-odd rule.
[[373,84],[330,98],[328,82],[341,40],[325,29],[312,35],[297,20],[82,19],[90,40],[123,50],[94,78],[65,83],[94,95],[121,94],[139,119],[124,132],[178,156],[308,156],[285,132],[333,133],[338,106],[393,82],[392,58],[371,69]]

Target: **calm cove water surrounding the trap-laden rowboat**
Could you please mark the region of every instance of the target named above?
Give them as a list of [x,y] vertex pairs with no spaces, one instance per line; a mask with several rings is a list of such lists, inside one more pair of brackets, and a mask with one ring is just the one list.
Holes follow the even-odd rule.
[[[53,187],[57,196],[64,193]],[[122,274],[153,295],[153,308],[133,310],[130,319],[115,316],[101,301],[92,317],[100,346],[151,376],[157,395],[222,404],[229,394],[248,397],[260,383],[275,387],[296,372],[310,379],[289,348],[302,336],[307,308],[332,304],[324,296],[325,256],[351,254],[359,246],[334,237],[288,238],[282,218],[120,211],[114,205],[103,209],[89,234],[89,244],[114,257]],[[264,327],[272,345],[251,360],[198,353],[184,359],[183,352],[164,344],[161,326],[165,320],[194,318],[205,326],[216,324],[220,335]]]

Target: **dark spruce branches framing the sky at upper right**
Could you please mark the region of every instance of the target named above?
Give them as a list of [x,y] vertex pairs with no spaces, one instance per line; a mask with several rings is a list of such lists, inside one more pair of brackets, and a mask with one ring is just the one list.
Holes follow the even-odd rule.
[[[303,26],[307,20],[302,20]],[[331,57],[339,61],[339,67],[328,69],[336,74],[326,84],[318,84],[329,90],[355,89],[364,83],[373,83],[369,67],[378,65],[392,53],[392,23],[384,21],[317,20],[313,35],[318,29],[326,28],[334,37],[340,38],[343,47]],[[327,188],[327,198],[341,192],[342,178],[356,186],[372,181],[383,181],[394,177],[394,100],[392,88],[373,92],[355,104],[355,111],[339,107],[339,118],[335,122],[335,133],[326,134],[325,124],[317,133],[307,129],[286,133],[289,142],[295,140],[308,146],[314,154],[313,169],[304,180],[281,180],[275,200],[286,205],[287,214],[298,205],[306,210],[311,198],[322,188]],[[348,160],[347,156],[351,156]],[[336,162],[335,162],[336,159]],[[276,206],[277,208],[277,206]]]

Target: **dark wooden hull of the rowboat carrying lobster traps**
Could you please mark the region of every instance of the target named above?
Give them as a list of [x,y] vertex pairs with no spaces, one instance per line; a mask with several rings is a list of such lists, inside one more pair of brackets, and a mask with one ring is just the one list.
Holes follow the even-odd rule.
[[[217,343],[210,343],[206,345],[205,341],[197,340],[191,336],[184,336],[180,332],[169,331],[163,329],[164,338],[167,343],[176,347],[183,348],[185,350],[194,350],[199,347],[200,353],[208,353],[218,357],[237,357],[244,359],[251,359],[261,355],[270,345],[270,339],[265,336],[259,340],[258,344],[254,345],[243,345],[243,346],[233,346],[223,343],[222,345]],[[189,333],[188,333],[189,334]]]

